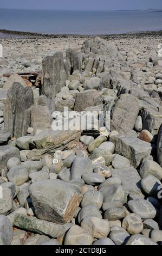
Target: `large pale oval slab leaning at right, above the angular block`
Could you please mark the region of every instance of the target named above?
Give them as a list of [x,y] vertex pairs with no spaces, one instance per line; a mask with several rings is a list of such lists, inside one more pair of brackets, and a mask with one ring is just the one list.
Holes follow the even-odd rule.
[[111,131],[125,134],[132,130],[139,113],[138,100],[131,94],[121,94],[112,109]]

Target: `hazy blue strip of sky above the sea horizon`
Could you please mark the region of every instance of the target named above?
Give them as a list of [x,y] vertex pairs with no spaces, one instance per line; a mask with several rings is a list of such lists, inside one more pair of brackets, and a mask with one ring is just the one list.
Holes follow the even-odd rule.
[[[161,0],[1,0],[0,8],[62,10],[162,9]],[[162,13],[161,13],[162,15]]]

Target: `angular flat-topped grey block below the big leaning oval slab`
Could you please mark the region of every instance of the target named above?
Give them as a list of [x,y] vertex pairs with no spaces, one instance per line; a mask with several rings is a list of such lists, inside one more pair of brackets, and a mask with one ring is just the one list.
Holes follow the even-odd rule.
[[115,153],[125,156],[135,168],[152,151],[150,143],[131,136],[111,136],[110,141],[115,144]]

